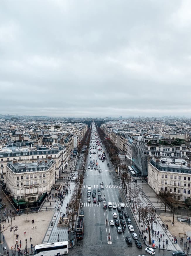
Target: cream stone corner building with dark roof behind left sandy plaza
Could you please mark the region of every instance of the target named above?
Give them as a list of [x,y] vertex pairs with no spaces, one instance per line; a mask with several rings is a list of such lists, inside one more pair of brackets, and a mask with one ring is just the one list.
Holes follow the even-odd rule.
[[53,159],[33,163],[6,165],[6,187],[15,200],[36,201],[45,192],[49,193],[55,183],[55,162]]

